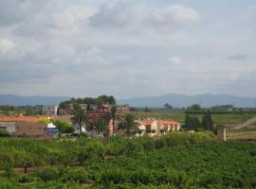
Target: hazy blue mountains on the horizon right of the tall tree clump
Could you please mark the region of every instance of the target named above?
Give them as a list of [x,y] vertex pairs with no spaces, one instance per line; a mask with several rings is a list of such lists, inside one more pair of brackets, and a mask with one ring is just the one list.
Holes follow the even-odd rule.
[[129,104],[132,107],[164,107],[169,103],[173,107],[182,108],[192,104],[199,104],[202,107],[212,107],[216,105],[233,105],[235,107],[256,108],[256,97],[243,97],[229,94],[164,94],[149,97],[134,97],[120,99],[118,104]]

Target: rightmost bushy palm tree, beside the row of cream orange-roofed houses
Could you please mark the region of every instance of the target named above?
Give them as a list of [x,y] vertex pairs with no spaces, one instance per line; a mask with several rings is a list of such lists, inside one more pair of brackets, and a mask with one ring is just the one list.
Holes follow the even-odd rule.
[[126,129],[127,135],[131,135],[131,130],[137,130],[138,123],[136,117],[132,113],[127,113],[122,118],[121,124],[123,129]]

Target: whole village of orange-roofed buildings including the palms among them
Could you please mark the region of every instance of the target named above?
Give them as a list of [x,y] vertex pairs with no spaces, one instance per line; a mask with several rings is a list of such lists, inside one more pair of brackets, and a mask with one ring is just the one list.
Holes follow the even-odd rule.
[[[16,137],[54,139],[81,133],[89,137],[105,137],[116,134],[160,136],[181,130],[181,123],[172,120],[136,119],[130,113],[128,105],[81,104],[79,109],[84,117],[84,121],[81,123],[73,119],[75,115],[72,113],[76,112],[73,104],[68,104],[65,109],[62,109],[63,115],[58,115],[58,110],[60,111],[58,106],[44,106],[43,115],[26,116],[22,113],[10,116],[2,115],[0,116],[0,131],[6,131],[10,136]],[[125,117],[130,120],[125,120]],[[73,129],[69,129],[68,132],[61,131],[54,124],[60,121],[67,123]],[[99,129],[100,127],[101,129]]]

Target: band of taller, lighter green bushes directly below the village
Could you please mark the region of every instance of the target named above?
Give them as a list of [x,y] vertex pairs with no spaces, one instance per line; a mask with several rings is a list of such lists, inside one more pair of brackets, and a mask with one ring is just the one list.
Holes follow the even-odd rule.
[[[105,140],[79,138],[64,141],[40,141],[26,138],[3,138],[0,151],[9,154],[13,166],[45,166],[54,164],[76,165],[91,159],[104,159],[107,156],[121,156],[139,151],[154,151],[172,146],[191,146],[210,140],[207,133],[173,133],[160,138],[149,136],[123,138],[109,137]],[[0,160],[1,162],[1,160]]]

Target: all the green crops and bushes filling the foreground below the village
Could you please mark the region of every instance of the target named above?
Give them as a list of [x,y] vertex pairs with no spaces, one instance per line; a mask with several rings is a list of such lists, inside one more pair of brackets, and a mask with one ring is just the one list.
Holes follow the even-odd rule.
[[[256,144],[211,139],[206,133],[1,139],[0,188],[255,188]],[[25,164],[46,168],[27,175],[11,168]]]

